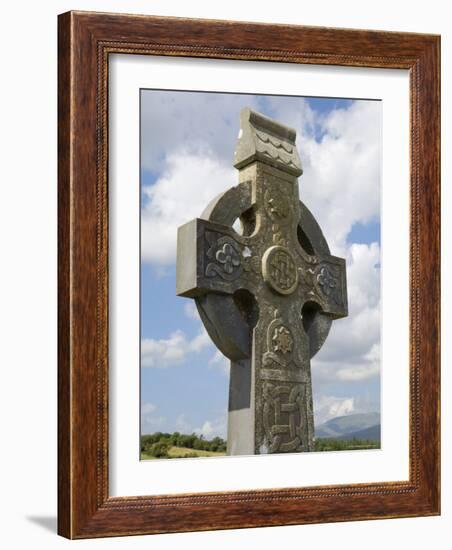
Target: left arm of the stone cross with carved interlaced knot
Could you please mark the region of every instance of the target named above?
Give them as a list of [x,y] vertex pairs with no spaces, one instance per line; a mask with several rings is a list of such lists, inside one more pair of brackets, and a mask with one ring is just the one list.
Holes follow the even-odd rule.
[[233,294],[246,287],[252,258],[245,241],[231,227],[199,218],[179,227],[177,295]]

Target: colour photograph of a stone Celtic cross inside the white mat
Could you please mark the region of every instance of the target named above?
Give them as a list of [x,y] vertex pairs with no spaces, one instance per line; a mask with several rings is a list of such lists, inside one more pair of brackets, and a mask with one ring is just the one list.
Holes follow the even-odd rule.
[[141,460],[380,449],[382,122],[140,90]]

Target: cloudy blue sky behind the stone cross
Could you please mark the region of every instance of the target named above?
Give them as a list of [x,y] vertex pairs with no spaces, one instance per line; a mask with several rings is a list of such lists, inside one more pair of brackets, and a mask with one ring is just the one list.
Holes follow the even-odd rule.
[[314,412],[379,411],[380,129],[376,101],[141,92],[141,426],[143,433],[226,434],[228,362],[194,303],[175,294],[177,227],[237,183],[239,112],[297,130],[300,197],[333,254],[347,259],[350,315],[312,362]]

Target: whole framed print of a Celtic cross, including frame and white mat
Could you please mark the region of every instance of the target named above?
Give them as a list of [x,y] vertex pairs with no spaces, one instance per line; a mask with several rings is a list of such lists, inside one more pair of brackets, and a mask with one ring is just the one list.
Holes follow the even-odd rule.
[[59,533],[439,514],[439,37],[59,17]]

